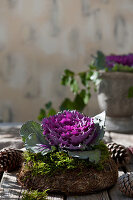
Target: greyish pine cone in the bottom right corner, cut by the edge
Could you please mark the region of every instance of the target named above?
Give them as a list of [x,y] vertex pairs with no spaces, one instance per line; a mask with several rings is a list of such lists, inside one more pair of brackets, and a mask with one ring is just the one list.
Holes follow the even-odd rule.
[[126,173],[118,179],[119,190],[126,196],[133,197],[133,173]]

